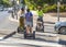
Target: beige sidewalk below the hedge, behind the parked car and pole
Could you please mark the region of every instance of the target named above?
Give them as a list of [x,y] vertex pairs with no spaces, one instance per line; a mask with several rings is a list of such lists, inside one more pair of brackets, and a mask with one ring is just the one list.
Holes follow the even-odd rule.
[[[61,13],[59,21],[65,22],[66,15],[65,13]],[[44,22],[56,23],[57,22],[57,13],[45,13]]]

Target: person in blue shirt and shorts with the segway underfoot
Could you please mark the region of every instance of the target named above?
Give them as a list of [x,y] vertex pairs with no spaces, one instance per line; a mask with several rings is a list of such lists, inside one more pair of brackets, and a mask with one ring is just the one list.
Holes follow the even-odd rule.
[[35,38],[35,32],[33,32],[33,14],[30,12],[30,9],[26,10],[25,13],[25,32],[24,32],[24,38],[26,37],[33,37]]

